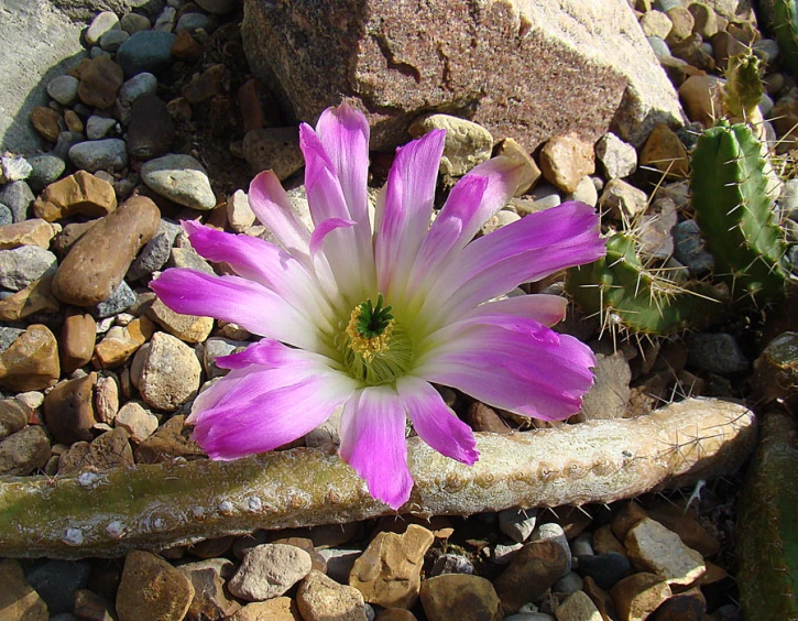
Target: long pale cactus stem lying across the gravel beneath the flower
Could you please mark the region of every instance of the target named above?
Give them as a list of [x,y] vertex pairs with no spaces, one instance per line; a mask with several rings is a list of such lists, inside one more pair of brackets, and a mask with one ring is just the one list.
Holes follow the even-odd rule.
[[[470,515],[611,502],[734,472],[755,439],[745,406],[690,399],[648,416],[509,435],[477,434],[473,467],[409,438],[415,479],[398,513]],[[334,450],[297,448],[0,479],[0,556],[120,556],[256,529],[347,523],[394,512]]]

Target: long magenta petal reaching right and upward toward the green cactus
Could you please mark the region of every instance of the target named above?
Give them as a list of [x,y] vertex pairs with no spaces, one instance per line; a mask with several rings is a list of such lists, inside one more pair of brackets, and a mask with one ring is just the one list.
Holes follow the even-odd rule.
[[481,302],[605,253],[599,216],[570,201],[532,214],[468,244],[439,274],[422,314],[456,318]]

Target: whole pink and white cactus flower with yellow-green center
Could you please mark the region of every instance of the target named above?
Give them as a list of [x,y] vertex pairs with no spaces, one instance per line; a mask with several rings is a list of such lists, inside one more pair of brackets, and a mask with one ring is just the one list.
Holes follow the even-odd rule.
[[152,283],[178,313],[264,337],[217,359],[230,373],[195,401],[188,422],[210,457],[274,449],[342,407],[341,458],[397,509],[413,488],[406,418],[442,455],[479,457],[470,427],[430,382],[535,418],[579,410],[594,358],[550,329],[566,301],[494,298],[602,257],[592,207],[565,203],[474,240],[518,182],[520,166],[499,157],[460,179],[430,226],[445,140],[431,131],[398,150],[372,224],[365,118],[341,105],[299,135],[314,230],[264,172],[250,205],[280,246],[184,222],[197,252],[238,275],[172,269]]

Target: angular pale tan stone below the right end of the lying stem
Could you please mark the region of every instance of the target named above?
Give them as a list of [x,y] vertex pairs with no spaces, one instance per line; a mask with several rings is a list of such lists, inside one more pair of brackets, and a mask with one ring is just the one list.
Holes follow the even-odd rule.
[[707,570],[700,553],[651,518],[630,529],[623,543],[635,567],[662,576],[669,585],[691,585]]

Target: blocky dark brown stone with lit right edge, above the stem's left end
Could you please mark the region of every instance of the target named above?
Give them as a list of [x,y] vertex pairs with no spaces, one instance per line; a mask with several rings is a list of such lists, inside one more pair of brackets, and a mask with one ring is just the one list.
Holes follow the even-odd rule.
[[89,442],[94,437],[94,388],[97,373],[67,380],[56,385],[44,397],[44,421],[56,442],[72,444]]

